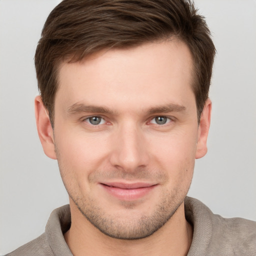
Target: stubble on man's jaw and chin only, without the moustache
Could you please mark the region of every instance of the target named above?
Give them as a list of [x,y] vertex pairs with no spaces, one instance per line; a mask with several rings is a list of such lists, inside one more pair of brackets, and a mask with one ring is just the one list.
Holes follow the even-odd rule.
[[[107,236],[125,240],[145,238],[162,227],[184,201],[189,188],[188,186],[186,191],[181,189],[182,194],[180,190],[171,191],[171,193],[162,191],[161,199],[154,206],[153,211],[140,216],[132,216],[131,213],[124,219],[123,216],[109,213],[109,209],[100,207],[92,198],[81,197],[73,189],[69,189],[73,187],[71,184],[67,185],[64,182],[64,186],[78,210],[94,227]],[[122,207],[132,212],[132,209],[136,207],[135,204],[134,202],[122,202]]]

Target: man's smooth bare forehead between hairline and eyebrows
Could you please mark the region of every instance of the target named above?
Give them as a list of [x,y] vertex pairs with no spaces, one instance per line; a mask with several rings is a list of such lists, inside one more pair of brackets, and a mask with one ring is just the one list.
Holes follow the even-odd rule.
[[[129,49],[101,50],[75,63],[62,63],[56,101],[122,105],[185,100],[191,92],[192,59],[185,43],[172,39]],[[191,96],[191,95],[190,95]]]

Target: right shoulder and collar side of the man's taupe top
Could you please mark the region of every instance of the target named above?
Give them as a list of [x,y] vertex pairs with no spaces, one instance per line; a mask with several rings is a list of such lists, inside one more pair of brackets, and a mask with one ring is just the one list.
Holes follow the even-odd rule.
[[223,218],[197,199],[186,197],[185,215],[193,225],[189,255],[256,255],[256,222]]

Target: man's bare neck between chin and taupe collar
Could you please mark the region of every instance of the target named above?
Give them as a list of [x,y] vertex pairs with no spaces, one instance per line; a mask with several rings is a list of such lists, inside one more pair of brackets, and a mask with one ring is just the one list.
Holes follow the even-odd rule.
[[192,241],[192,227],[186,221],[182,203],[173,216],[152,235],[136,240],[109,237],[94,227],[70,200],[71,226],[64,234],[74,256],[186,255]]

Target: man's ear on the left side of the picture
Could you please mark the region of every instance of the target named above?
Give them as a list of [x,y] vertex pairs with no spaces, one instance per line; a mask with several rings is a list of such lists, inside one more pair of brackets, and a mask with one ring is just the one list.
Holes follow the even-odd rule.
[[44,108],[40,96],[36,96],[34,99],[34,111],[37,132],[42,144],[43,151],[48,157],[56,159],[53,130],[50,124],[48,112]]

